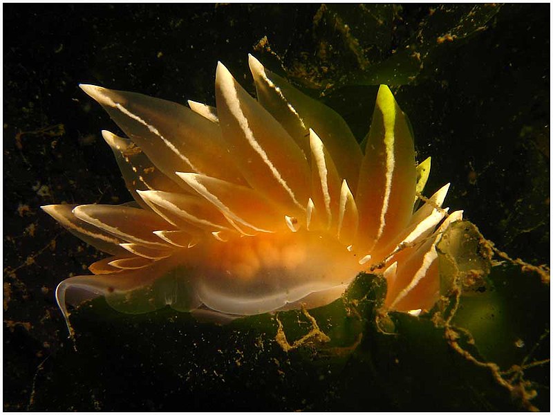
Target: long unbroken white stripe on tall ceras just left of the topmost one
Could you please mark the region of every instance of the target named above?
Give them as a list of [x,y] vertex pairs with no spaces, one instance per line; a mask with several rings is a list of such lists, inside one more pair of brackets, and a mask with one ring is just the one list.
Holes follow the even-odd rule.
[[223,71],[221,71],[222,76],[219,78],[221,80],[221,92],[223,93],[223,97],[227,102],[227,106],[229,107],[230,112],[232,113],[234,118],[236,118],[236,121],[238,121],[238,125],[242,129],[247,142],[250,144],[252,149],[254,149],[254,151],[259,154],[261,160],[263,160],[263,163],[265,163],[265,165],[269,167],[272,176],[277,179],[277,182],[279,182],[286,193],[288,193],[294,205],[297,205],[298,208],[305,212],[306,208],[301,205],[299,201],[297,201],[296,195],[294,194],[294,192],[292,192],[292,189],[290,189],[288,183],[286,183],[284,178],[281,176],[279,170],[277,170],[277,167],[274,167],[274,165],[272,164],[269,156],[267,155],[267,153],[265,153],[263,147],[261,147],[261,145],[259,145],[259,142],[257,142],[257,140],[255,139],[254,133],[250,129],[250,124],[247,122],[247,118],[245,118],[244,113],[240,108],[238,93],[236,91],[236,86],[234,86],[234,78],[229,73],[228,69],[225,68],[223,64],[221,64],[221,62],[219,62],[218,64],[221,65],[221,68],[223,68]]

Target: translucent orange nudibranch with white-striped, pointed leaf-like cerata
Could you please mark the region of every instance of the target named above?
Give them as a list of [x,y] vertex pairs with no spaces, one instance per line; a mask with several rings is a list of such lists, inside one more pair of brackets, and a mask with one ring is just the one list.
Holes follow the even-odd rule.
[[81,85],[127,136],[102,131],[135,201],[42,207],[111,255],[57,286],[67,322],[68,303],[98,295],[128,313],[313,308],[367,270],[387,279],[388,309],[438,299],[435,246],[462,211],[442,208],[449,184],[420,197],[430,158],[415,163],[388,86],[362,148],[335,111],[249,63],[257,100],[219,62],[216,108]]

